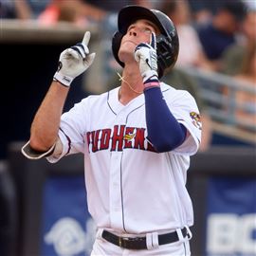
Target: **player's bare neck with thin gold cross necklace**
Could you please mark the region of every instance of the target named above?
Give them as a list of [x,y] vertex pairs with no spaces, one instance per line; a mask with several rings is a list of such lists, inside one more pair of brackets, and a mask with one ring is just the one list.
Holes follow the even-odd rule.
[[122,104],[127,104],[143,93],[144,86],[138,66],[125,67],[120,80],[119,101]]

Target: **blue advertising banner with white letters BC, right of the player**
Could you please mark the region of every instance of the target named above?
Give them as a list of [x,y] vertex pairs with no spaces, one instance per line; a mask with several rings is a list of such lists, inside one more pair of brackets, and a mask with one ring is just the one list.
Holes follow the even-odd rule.
[[256,255],[256,178],[209,181],[207,256]]

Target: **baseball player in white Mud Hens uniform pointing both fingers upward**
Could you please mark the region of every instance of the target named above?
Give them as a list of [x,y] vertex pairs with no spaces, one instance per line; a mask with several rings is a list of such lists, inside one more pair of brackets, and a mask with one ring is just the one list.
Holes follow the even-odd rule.
[[190,155],[201,139],[196,102],[160,82],[178,54],[173,22],[155,9],[119,11],[113,54],[119,87],[63,112],[69,86],[95,58],[90,33],[61,53],[59,68],[31,125],[28,158],[83,153],[88,210],[98,227],[91,255],[190,255]]

